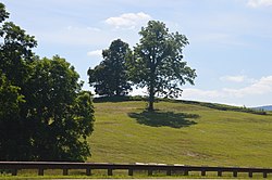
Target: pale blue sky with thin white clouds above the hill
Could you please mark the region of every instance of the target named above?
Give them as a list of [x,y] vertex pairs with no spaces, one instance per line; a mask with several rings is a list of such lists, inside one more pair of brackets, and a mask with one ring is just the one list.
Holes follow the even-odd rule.
[[[87,69],[121,38],[133,48],[140,27],[162,21],[186,35],[185,61],[195,86],[182,99],[258,106],[272,104],[272,0],[2,0],[10,20],[34,35],[35,52],[59,54],[75,66],[85,89]],[[143,90],[134,92],[143,93]]]

